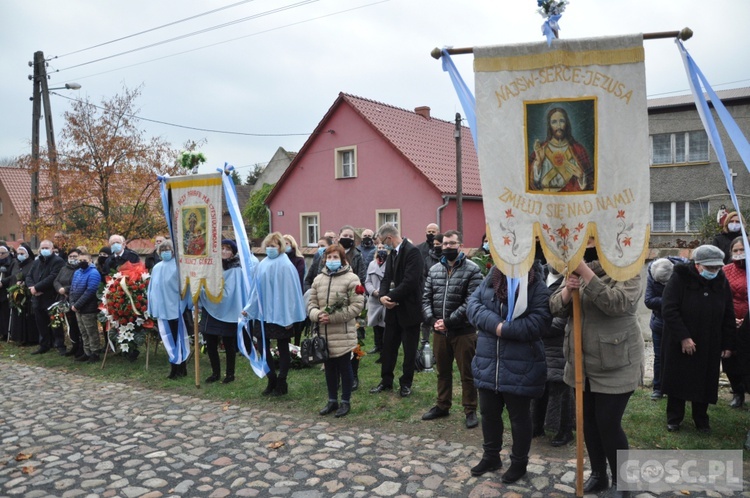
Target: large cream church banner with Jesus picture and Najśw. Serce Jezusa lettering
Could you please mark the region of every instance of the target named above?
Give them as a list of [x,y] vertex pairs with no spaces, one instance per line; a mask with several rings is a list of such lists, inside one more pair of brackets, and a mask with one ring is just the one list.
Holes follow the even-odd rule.
[[641,35],[474,49],[479,170],[496,265],[528,272],[535,239],[559,271],[594,237],[604,270],[648,249],[649,135]]

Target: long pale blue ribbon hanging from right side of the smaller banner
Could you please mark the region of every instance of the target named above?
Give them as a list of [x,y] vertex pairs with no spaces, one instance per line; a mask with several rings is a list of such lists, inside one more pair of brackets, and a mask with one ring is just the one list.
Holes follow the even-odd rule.
[[[234,236],[237,239],[237,252],[240,255],[240,264],[244,270],[242,278],[245,281],[245,289],[248,291],[249,296],[260,296],[260,289],[258,293],[254,294],[249,292],[253,287],[258,287],[255,281],[254,273],[255,268],[253,267],[253,260],[250,256],[250,243],[247,238],[247,232],[245,231],[245,223],[242,221],[242,211],[240,209],[239,202],[237,201],[237,189],[234,186],[234,181],[230,173],[234,169],[234,166],[224,163],[224,169],[217,168],[217,171],[224,173],[221,175],[221,182],[224,186],[224,198],[227,203],[227,210],[229,211],[229,217],[232,219],[232,227],[234,228]],[[248,297],[248,296],[246,296]],[[261,308],[262,314],[262,308]],[[256,351],[255,345],[252,341],[252,336],[249,333],[250,324],[242,316],[237,320],[237,348],[240,350],[243,356],[250,361],[250,366],[253,372],[261,379],[270,371],[268,363],[266,361],[266,331],[263,321],[260,320],[261,329],[261,344],[260,348],[263,351],[262,355],[259,355]],[[250,351],[248,352],[245,347],[244,335],[248,334],[250,338]]]

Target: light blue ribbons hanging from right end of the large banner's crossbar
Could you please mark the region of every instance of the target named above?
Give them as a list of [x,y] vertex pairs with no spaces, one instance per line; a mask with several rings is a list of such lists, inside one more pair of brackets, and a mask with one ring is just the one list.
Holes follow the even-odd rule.
[[[706,102],[706,97],[705,95],[703,95],[703,91],[701,88],[704,88],[706,90],[706,93],[711,99],[711,104],[713,104],[714,109],[716,109],[716,114],[719,116],[719,119],[721,119],[721,123],[724,125],[724,129],[727,131],[729,139],[737,149],[737,152],[739,153],[740,158],[742,158],[742,162],[745,163],[745,167],[748,169],[748,171],[750,171],[750,145],[748,145],[747,138],[745,138],[745,136],[742,134],[739,126],[737,126],[737,123],[729,114],[729,111],[727,111],[726,107],[724,107],[721,99],[718,97],[718,95],[716,95],[716,92],[714,92],[713,88],[711,88],[711,85],[708,83],[708,80],[698,67],[698,64],[695,63],[695,60],[693,60],[680,40],[677,40],[677,48],[679,49],[680,55],[682,56],[682,62],[685,64],[685,71],[687,72],[688,81],[690,83],[690,90],[693,92],[695,107],[698,110],[701,122],[703,122],[703,127],[706,129],[706,133],[708,134],[708,139],[711,142],[711,146],[714,148],[716,157],[718,158],[719,164],[721,165],[721,170],[724,173],[724,180],[727,184],[727,190],[729,190],[729,195],[732,198],[732,204],[734,204],[734,210],[739,213],[740,203],[737,200],[737,194],[734,191],[734,184],[732,183],[732,175],[729,171],[729,164],[727,163],[724,144],[721,141],[719,129],[716,126],[716,121],[714,120],[713,114],[711,114],[711,110],[708,108],[708,102]],[[701,83],[703,85],[702,87]],[[750,254],[750,251],[748,251],[747,249],[750,248],[750,245],[748,245],[747,232],[745,231],[745,221],[741,216],[740,229],[742,231],[742,243],[745,245],[745,261],[748,261],[748,255]],[[748,296],[750,296],[750,279],[747,279],[747,286]]]

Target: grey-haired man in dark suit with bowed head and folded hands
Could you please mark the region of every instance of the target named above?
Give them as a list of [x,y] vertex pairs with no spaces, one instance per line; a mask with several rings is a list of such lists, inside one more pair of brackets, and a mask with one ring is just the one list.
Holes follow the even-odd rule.
[[404,346],[403,375],[399,378],[402,397],[411,394],[414,363],[422,321],[422,270],[424,258],[414,244],[402,239],[398,228],[385,224],[378,238],[391,253],[386,260],[385,275],[380,283],[380,302],[385,307],[385,333],[380,367],[380,384],[371,394],[393,389],[393,371],[398,349]]

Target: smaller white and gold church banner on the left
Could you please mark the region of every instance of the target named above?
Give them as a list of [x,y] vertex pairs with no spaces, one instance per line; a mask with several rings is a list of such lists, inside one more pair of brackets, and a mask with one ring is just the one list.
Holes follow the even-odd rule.
[[169,215],[175,236],[180,289],[188,289],[193,303],[200,291],[221,301],[221,173],[167,177]]

